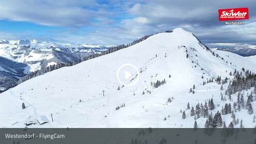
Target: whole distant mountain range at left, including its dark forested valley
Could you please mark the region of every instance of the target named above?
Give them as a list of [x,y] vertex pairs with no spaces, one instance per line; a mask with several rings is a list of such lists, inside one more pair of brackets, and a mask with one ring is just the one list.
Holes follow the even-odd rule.
[[0,40],[0,92],[15,85],[20,77],[42,67],[78,61],[113,46]]

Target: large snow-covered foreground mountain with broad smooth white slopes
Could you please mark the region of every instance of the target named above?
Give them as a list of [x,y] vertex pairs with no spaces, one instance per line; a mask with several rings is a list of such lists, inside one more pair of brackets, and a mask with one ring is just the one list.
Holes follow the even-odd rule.
[[[117,70],[125,63],[141,70],[138,82],[130,87],[122,86],[117,79]],[[235,120],[243,119],[245,127],[254,127],[254,97],[254,112],[248,114],[245,107],[237,110],[233,106],[237,93],[229,96],[225,92],[234,71],[243,68],[256,72],[256,56],[212,51],[193,34],[177,28],[126,49],[31,78],[1,93],[0,126],[193,127],[196,120],[198,127],[204,127],[211,114],[214,116],[231,103],[228,111],[234,111]],[[132,75],[130,83],[136,76]],[[252,90],[241,91],[245,101]],[[205,102],[209,109],[203,109],[209,115],[201,110]],[[195,113],[199,109],[201,112],[190,116],[191,107]],[[228,126],[232,118],[226,112],[221,118]],[[234,127],[239,124],[234,123]]]

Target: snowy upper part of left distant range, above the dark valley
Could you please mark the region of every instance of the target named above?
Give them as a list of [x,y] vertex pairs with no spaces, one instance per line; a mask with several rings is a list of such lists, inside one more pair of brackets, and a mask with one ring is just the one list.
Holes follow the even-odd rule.
[[90,54],[101,53],[112,45],[57,44],[37,40],[0,40],[0,56],[27,63],[25,73],[39,70],[49,62],[72,62]]

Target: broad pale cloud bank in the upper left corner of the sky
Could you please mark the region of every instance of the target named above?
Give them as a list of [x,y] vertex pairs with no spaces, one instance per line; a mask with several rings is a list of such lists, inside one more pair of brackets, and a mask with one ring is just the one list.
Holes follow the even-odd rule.
[[94,1],[8,0],[0,4],[0,19],[33,22],[48,26],[79,27],[97,18],[99,5]]

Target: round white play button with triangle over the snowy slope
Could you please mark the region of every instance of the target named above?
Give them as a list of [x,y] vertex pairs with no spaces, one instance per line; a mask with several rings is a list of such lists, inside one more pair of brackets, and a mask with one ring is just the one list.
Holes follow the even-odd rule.
[[122,65],[117,70],[117,79],[121,85],[132,86],[137,83],[138,78],[139,78],[138,69],[130,63],[126,63]]

